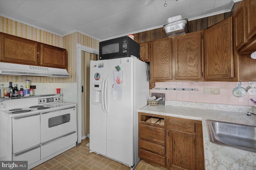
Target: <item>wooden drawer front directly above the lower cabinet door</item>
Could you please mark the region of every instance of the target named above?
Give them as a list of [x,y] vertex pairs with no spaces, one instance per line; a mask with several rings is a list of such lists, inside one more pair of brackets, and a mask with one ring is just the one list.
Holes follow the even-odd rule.
[[168,119],[168,129],[196,133],[196,123]]

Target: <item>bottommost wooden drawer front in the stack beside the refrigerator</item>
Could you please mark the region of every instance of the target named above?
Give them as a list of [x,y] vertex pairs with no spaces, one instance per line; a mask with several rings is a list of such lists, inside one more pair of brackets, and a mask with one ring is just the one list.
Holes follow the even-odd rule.
[[150,162],[160,166],[166,166],[166,157],[154,154],[144,149],[140,149],[140,158],[146,162]]

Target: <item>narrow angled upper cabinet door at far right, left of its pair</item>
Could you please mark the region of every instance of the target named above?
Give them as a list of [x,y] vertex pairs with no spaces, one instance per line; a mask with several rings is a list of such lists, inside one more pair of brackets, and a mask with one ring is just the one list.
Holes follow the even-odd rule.
[[236,51],[240,49],[246,42],[247,30],[246,30],[246,11],[245,11],[245,3],[242,2],[239,8],[236,10],[234,14],[234,37],[235,37],[235,46]]

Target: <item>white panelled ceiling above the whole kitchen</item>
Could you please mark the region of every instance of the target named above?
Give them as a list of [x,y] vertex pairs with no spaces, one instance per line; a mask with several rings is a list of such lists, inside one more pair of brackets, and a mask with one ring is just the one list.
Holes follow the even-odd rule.
[[78,31],[103,41],[163,27],[177,15],[196,20],[229,12],[239,0],[166,0],[167,7],[165,0],[145,1],[0,0],[0,15],[56,35]]

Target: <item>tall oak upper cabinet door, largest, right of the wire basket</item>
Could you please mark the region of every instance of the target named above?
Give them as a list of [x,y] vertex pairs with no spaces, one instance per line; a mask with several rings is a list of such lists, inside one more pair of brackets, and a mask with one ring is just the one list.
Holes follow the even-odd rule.
[[205,80],[233,78],[232,17],[206,29],[204,38]]

